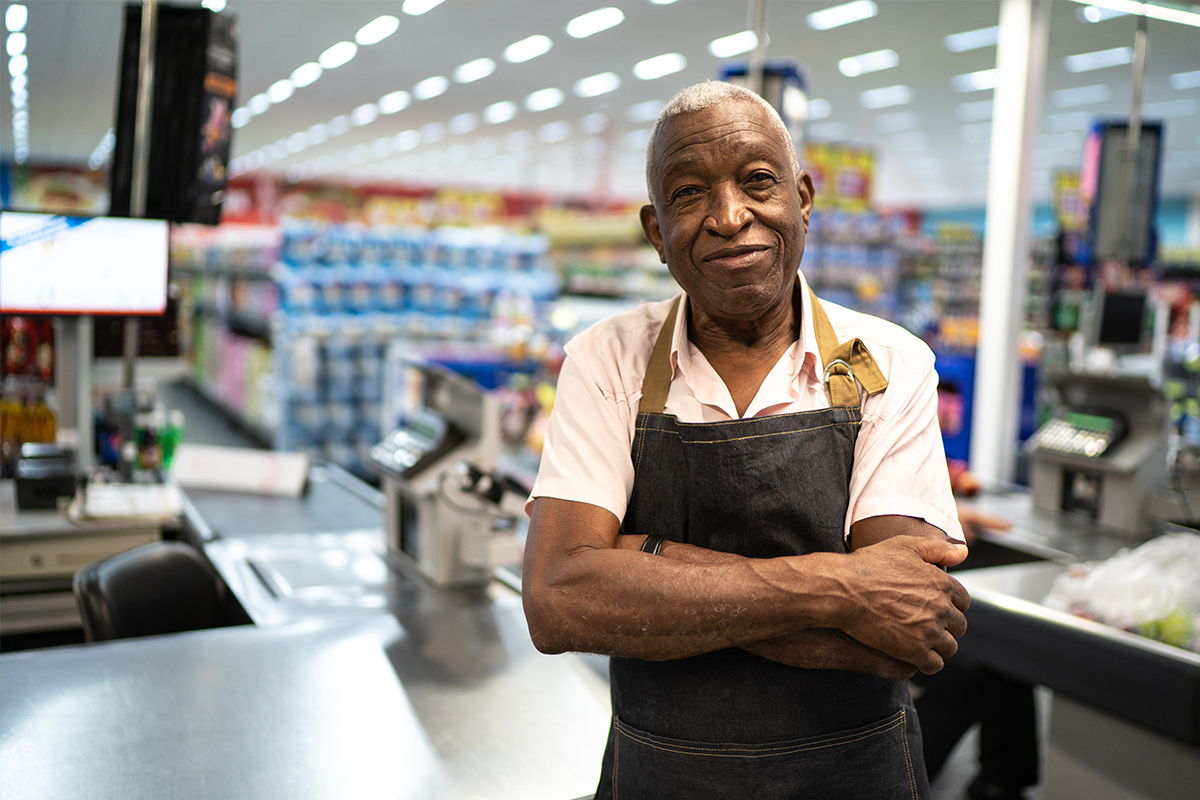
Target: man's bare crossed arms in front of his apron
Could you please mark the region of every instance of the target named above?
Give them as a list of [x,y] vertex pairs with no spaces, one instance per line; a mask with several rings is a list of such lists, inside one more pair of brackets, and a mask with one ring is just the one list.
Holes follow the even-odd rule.
[[892,680],[958,650],[970,597],[941,566],[966,558],[937,528],[871,517],[850,553],[749,559],[623,536],[612,512],[556,498],[533,507],[523,603],[534,644],[665,661],[739,646],[796,667]]

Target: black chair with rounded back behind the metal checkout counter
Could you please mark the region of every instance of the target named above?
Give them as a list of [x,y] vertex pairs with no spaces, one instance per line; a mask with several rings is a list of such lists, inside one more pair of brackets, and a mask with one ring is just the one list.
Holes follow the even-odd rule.
[[152,542],[92,561],[72,588],[88,642],[228,624],[224,582],[182,542]]

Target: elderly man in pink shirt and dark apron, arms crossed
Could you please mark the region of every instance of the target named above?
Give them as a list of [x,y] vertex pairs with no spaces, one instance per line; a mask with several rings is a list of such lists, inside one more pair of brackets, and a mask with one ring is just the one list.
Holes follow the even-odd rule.
[[970,602],[934,356],[809,291],[757,95],[682,91],[646,173],[684,294],[568,345],[526,548],[538,648],[613,656],[596,798],[928,796],[905,679]]

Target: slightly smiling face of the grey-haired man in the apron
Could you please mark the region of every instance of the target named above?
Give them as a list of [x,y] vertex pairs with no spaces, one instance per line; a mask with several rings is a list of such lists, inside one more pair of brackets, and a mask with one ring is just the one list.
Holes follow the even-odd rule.
[[791,302],[812,182],[792,173],[767,112],[736,102],[682,114],[655,156],[658,201],[642,228],[694,312],[750,321]]

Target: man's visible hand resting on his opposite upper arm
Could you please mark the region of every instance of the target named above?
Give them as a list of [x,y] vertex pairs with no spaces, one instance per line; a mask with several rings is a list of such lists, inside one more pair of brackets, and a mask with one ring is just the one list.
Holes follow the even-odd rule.
[[845,559],[841,630],[863,644],[930,674],[958,649],[971,597],[937,565],[958,564],[965,548],[931,536],[900,535]]

